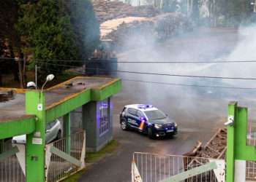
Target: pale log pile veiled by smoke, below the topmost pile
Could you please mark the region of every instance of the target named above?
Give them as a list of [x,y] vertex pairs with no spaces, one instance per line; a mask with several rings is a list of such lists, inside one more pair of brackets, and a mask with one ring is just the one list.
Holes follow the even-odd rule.
[[[129,21],[132,18],[134,20]],[[102,23],[101,39],[112,40],[116,47],[124,47],[124,45],[127,46],[127,40],[166,40],[192,28],[192,23],[181,13],[165,13],[156,17],[138,18],[141,17],[125,17]],[[123,23],[119,21],[116,24],[118,20]],[[140,41],[133,41],[133,43],[135,44],[131,47],[137,46]]]

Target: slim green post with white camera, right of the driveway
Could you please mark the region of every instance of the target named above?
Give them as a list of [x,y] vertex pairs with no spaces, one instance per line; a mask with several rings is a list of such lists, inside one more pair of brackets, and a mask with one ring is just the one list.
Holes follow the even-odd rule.
[[227,116],[233,118],[233,124],[227,126],[227,154],[226,154],[226,181],[234,182],[235,175],[235,125],[236,125],[236,102],[231,102],[227,108]]

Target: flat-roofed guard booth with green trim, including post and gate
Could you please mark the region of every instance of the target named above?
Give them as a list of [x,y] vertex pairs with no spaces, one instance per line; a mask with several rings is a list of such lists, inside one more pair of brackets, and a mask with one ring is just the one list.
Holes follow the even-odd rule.
[[[12,90],[0,102],[0,181],[59,181],[85,166],[86,151],[112,139],[111,96],[121,90],[120,79],[75,77],[44,91]],[[74,111],[80,130],[71,127],[78,122]],[[46,143],[46,127],[56,119],[63,137]],[[6,147],[16,135],[26,135],[25,144]]]

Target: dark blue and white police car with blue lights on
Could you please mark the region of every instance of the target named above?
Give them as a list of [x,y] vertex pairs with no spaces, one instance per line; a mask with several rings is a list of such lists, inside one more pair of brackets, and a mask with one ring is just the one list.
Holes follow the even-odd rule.
[[148,134],[149,138],[176,135],[178,129],[176,122],[158,108],[144,104],[124,106],[120,124],[122,130],[135,129]]

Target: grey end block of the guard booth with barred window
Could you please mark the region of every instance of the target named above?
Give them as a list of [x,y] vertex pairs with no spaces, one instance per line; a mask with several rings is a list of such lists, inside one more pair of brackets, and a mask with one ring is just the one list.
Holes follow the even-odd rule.
[[83,129],[86,130],[86,151],[99,151],[113,139],[112,103],[108,100],[107,130],[100,131],[100,109],[102,101],[90,102],[83,106]]

